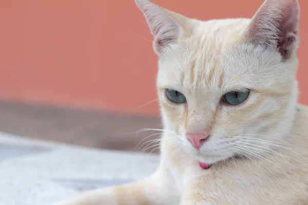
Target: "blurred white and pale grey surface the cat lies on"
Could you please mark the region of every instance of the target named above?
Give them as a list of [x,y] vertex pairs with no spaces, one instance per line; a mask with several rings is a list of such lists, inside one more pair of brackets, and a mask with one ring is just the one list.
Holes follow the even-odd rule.
[[[62,145],[0,132],[0,205],[49,205],[150,176],[159,156]],[[125,169],[123,169],[125,168]]]

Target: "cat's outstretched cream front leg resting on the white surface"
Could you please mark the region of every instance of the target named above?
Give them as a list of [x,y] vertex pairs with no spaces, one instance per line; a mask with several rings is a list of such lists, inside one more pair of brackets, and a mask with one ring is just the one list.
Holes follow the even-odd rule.
[[179,194],[172,182],[161,175],[124,186],[99,189],[53,205],[172,205],[179,204]]

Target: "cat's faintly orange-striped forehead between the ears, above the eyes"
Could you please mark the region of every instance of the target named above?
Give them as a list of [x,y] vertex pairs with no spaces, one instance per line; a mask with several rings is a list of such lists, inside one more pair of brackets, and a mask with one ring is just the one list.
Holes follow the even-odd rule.
[[[214,93],[258,87],[256,76],[273,72],[269,65],[279,57],[243,42],[241,32],[248,24],[249,19],[202,22],[160,60],[159,87]],[[266,84],[266,76],[260,78]]]

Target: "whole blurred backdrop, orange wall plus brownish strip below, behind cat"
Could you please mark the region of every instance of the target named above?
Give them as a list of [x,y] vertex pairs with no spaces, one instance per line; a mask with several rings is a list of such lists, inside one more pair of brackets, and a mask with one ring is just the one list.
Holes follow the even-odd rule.
[[[153,2],[207,20],[252,17],[263,0]],[[299,100],[308,104],[308,1],[299,3]],[[157,56],[133,0],[0,1],[0,19],[0,131],[152,151],[137,145],[157,131],[132,133],[161,128]]]

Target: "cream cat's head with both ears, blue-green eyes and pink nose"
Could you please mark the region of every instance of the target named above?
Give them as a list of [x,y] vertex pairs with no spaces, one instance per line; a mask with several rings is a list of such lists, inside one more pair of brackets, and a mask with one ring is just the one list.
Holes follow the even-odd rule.
[[285,137],[296,112],[298,0],[206,22],[136,3],[155,37],[164,126],[179,146],[214,163],[257,156]]

